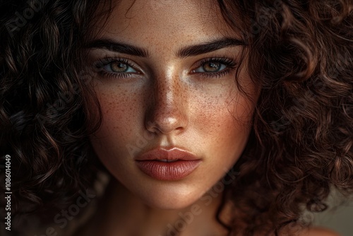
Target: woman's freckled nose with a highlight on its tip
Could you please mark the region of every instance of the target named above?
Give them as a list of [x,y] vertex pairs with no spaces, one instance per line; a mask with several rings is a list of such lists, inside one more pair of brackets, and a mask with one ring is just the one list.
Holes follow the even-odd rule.
[[148,93],[145,127],[154,134],[180,134],[188,126],[188,88],[179,76],[155,79]]

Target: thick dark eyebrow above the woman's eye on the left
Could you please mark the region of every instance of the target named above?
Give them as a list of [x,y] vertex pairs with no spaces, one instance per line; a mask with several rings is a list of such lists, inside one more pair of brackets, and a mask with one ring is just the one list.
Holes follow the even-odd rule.
[[85,48],[108,49],[112,52],[120,52],[138,57],[148,57],[148,51],[125,42],[116,42],[109,39],[100,39],[89,42]]

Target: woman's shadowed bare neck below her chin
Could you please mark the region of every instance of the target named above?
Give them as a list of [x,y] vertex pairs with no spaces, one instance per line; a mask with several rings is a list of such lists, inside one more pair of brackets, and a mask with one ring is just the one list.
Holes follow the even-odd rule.
[[227,230],[216,220],[221,201],[222,192],[208,191],[191,206],[162,210],[146,205],[138,196],[112,179],[97,211],[95,230],[100,232],[99,235],[107,236],[223,235]]

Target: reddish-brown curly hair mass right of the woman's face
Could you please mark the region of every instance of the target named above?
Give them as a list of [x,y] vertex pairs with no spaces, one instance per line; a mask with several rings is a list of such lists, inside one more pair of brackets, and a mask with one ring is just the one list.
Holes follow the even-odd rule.
[[245,235],[278,234],[325,210],[330,188],[352,194],[353,1],[219,3],[229,25],[242,19],[263,86],[231,196]]

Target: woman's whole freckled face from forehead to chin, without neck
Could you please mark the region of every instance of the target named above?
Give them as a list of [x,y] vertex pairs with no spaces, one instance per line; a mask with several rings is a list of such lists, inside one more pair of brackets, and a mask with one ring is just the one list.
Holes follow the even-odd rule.
[[[246,66],[236,76],[246,53],[239,33],[211,0],[119,1],[95,29],[88,63],[103,115],[90,137],[97,156],[148,205],[189,206],[234,165],[249,136],[258,88]],[[177,161],[161,160],[170,158]]]

